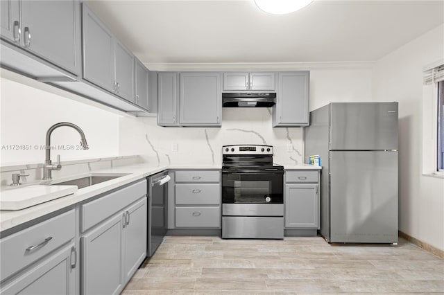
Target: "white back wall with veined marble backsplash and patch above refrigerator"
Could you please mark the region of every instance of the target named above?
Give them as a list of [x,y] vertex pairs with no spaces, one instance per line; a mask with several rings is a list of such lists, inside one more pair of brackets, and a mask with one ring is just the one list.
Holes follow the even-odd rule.
[[[372,99],[371,66],[339,69],[325,65],[325,69],[310,70],[310,109],[329,102]],[[275,163],[303,162],[302,128],[273,128],[271,109],[266,108],[224,108],[221,128],[158,127],[155,118],[121,118],[120,134],[121,155],[144,154],[148,162],[159,166],[220,164],[222,145],[230,144],[273,145]],[[177,152],[173,144],[178,145]]]

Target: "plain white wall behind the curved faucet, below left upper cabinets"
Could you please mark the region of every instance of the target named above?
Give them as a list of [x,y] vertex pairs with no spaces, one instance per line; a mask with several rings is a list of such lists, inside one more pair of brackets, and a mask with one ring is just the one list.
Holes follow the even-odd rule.
[[[46,130],[59,122],[78,125],[85,132],[89,150],[62,150],[58,145],[80,145],[80,135],[71,127],[60,127],[51,136],[53,161],[60,154],[62,161],[114,157],[119,154],[119,118],[121,116],[92,107],[62,96],[65,91],[56,89],[60,94],[42,89],[49,85],[19,77],[17,80],[42,89],[27,86],[21,82],[4,78],[1,87],[1,166],[15,164],[43,163]],[[15,78],[15,74],[7,74]],[[38,83],[38,84],[37,84]],[[72,96],[66,94],[66,96]],[[20,145],[22,147],[12,147]],[[24,149],[25,148],[25,149]]]

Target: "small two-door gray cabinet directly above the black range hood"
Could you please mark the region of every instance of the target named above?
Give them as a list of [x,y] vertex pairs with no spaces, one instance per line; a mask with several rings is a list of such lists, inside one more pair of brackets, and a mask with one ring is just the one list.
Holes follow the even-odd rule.
[[223,73],[223,91],[274,91],[275,73]]

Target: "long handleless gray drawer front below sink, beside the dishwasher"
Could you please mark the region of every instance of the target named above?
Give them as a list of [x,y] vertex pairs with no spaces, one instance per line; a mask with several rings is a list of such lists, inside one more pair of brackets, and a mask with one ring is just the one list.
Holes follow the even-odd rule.
[[146,180],[83,204],[80,206],[80,229],[82,233],[144,195],[146,195]]

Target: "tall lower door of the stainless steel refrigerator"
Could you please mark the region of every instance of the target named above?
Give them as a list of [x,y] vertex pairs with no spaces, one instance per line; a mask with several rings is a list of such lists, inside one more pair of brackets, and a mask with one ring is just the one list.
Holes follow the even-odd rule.
[[398,152],[330,157],[330,242],[398,242]]

